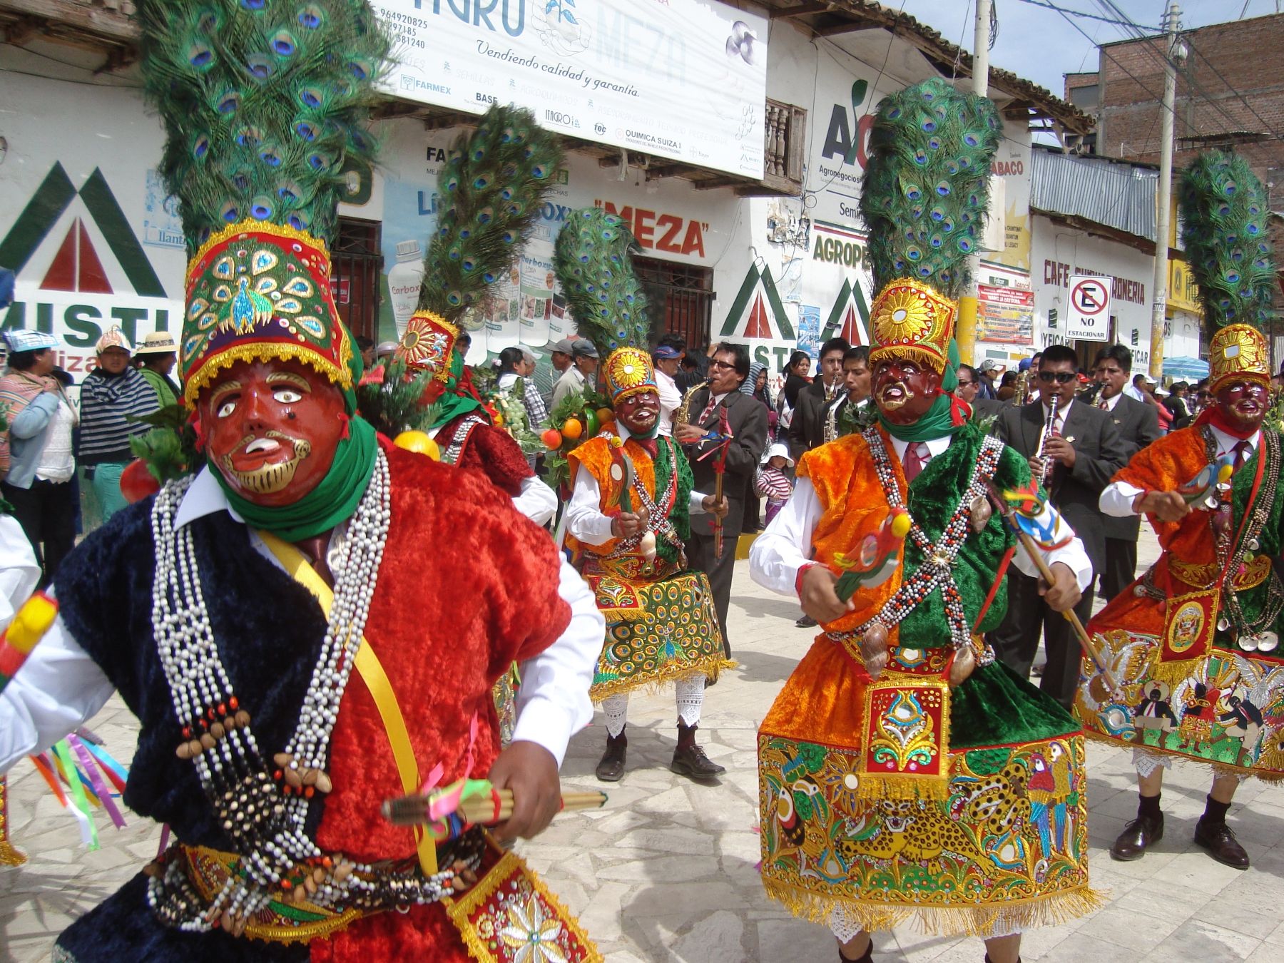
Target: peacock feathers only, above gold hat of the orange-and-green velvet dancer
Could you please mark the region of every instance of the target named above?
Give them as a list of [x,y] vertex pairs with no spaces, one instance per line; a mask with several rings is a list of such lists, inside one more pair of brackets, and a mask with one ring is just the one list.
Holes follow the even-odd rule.
[[913,277],[948,298],[963,294],[1002,130],[993,101],[940,78],[883,99],[860,191],[874,290]]

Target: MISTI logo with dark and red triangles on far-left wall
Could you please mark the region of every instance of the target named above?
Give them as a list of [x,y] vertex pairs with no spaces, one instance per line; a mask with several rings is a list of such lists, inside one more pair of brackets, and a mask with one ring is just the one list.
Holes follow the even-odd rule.
[[77,190],[55,163],[0,240],[0,265],[18,275],[4,330],[36,329],[74,349],[112,325],[135,343],[169,329],[175,303],[100,169]]

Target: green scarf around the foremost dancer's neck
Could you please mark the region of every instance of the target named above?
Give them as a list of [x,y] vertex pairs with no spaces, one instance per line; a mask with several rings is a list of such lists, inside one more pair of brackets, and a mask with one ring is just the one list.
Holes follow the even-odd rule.
[[329,532],[352,516],[374,475],[377,453],[375,429],[365,419],[353,417],[348,422],[348,437],[339,442],[334,462],[321,484],[293,505],[280,507],[247,501],[227,484],[214,462],[208,465],[227,496],[227,503],[248,525],[271,532],[286,542],[300,542]]

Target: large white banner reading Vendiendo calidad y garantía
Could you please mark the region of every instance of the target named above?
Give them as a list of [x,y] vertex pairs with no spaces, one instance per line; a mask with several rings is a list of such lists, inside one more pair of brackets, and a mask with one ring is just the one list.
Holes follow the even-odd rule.
[[767,18],[698,0],[383,0],[404,100],[763,176]]

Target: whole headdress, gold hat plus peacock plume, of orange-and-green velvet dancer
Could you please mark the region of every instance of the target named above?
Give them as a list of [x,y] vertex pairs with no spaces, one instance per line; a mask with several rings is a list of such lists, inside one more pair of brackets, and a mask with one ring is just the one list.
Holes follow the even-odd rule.
[[993,101],[935,77],[880,104],[860,194],[877,291],[871,363],[895,352],[949,367],[1002,128]]

